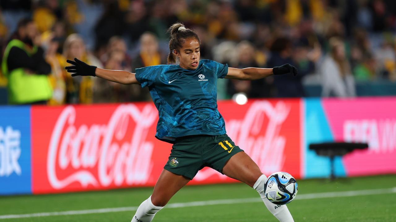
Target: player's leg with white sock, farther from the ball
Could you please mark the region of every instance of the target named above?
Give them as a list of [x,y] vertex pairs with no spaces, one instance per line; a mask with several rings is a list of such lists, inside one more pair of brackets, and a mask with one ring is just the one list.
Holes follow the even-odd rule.
[[131,222],[150,222],[155,214],[160,211],[190,179],[162,170],[152,195],[143,201],[133,216]]

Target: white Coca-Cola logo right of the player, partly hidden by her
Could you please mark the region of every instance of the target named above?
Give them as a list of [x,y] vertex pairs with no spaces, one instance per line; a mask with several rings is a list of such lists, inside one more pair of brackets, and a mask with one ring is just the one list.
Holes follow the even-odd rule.
[[[279,133],[290,109],[283,101],[272,105],[267,100],[260,100],[250,105],[243,119],[226,121],[227,135],[264,173],[280,171],[284,166],[286,138]],[[206,168],[199,171],[194,180],[203,181],[213,174],[218,174],[221,179],[227,178]]]

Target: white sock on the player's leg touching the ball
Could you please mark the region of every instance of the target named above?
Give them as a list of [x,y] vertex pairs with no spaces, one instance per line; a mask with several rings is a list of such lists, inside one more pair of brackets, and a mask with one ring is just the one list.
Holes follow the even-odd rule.
[[276,205],[274,203],[271,203],[267,199],[267,197],[264,194],[264,184],[265,181],[267,180],[267,177],[263,174],[259,177],[259,179],[256,181],[254,184],[253,188],[259,192],[261,199],[263,199],[263,202],[265,206],[267,207],[268,211],[270,211],[280,222],[294,222],[293,217],[290,214],[289,209],[287,209],[286,205]]

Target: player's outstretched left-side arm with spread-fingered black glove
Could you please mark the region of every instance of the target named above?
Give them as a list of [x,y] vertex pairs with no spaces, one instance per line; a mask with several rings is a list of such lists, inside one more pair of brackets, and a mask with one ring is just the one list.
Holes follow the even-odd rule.
[[72,66],[66,66],[65,69],[72,73],[72,76],[77,75],[91,75],[101,77],[103,79],[122,84],[140,84],[136,77],[135,73],[130,73],[128,71],[122,70],[105,70],[101,68],[97,68],[96,66],[89,66],[85,62],[74,58],[74,61],[67,60],[68,63],[72,64]]

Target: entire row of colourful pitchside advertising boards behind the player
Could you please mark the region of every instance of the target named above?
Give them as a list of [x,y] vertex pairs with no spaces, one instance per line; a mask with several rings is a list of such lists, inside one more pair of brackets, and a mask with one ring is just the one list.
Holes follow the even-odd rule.
[[[335,158],[337,176],[396,173],[396,98],[219,102],[227,134],[266,175],[328,177],[310,143],[367,142]],[[0,107],[0,195],[154,186],[171,144],[152,103]],[[365,163],[362,165],[362,163]],[[211,168],[189,184],[235,182]]]

